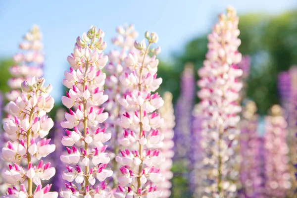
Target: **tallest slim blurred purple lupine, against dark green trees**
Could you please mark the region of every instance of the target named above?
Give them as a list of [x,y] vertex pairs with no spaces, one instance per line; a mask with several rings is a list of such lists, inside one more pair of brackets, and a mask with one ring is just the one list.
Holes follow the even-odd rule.
[[176,127],[174,129],[174,159],[189,164],[191,140],[191,116],[195,98],[194,65],[188,63],[181,75],[181,93],[176,104]]

